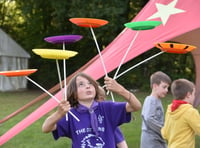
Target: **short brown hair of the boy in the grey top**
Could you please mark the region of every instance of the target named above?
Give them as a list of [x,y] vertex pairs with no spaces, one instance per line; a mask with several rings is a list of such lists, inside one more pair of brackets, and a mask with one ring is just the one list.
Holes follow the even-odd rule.
[[161,82],[165,82],[167,84],[171,83],[171,78],[162,71],[157,71],[153,73],[150,77],[150,86],[152,88],[153,84],[160,84]]

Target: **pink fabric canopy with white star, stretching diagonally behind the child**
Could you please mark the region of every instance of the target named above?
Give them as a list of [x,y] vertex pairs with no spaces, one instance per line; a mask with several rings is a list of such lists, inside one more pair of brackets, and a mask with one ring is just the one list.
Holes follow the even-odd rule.
[[[154,47],[154,44],[157,42],[173,40],[175,37],[180,37],[181,35],[185,35],[188,32],[200,28],[199,6],[200,1],[196,0],[150,0],[132,22],[156,20],[162,21],[162,24],[155,29],[139,32],[124,63],[148,51]],[[120,61],[136,33],[137,31],[125,28],[102,51],[102,57],[108,72],[111,72],[119,66]],[[179,38],[176,39],[176,41],[179,41]],[[181,39],[182,38],[180,38],[180,40]],[[195,46],[198,47],[198,45]],[[80,68],[83,72],[91,75],[94,79],[99,79],[105,75],[102,63],[98,57],[99,55],[90,60],[90,64],[86,64],[87,66]],[[40,119],[55,106],[57,106],[57,103],[53,99],[48,100],[27,118],[2,135],[0,137],[0,145],[3,145],[23,129]]]

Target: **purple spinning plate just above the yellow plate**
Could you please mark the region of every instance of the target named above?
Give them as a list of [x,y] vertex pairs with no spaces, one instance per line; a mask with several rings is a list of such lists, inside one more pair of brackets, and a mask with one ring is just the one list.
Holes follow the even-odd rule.
[[59,35],[44,38],[45,41],[53,44],[71,44],[82,39],[81,35]]

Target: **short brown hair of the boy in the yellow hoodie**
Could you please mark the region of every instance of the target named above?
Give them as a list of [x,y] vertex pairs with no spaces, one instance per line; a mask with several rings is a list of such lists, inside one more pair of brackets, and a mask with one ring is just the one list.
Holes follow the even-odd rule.
[[177,79],[172,82],[171,92],[176,100],[183,100],[187,93],[192,93],[194,90],[194,83],[186,79]]

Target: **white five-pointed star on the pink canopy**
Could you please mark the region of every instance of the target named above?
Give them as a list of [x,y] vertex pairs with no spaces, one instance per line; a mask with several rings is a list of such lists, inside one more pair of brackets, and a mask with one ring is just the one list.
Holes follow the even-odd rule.
[[177,2],[178,2],[178,0],[174,0],[171,3],[169,3],[168,5],[156,3],[157,12],[154,13],[149,18],[147,18],[147,20],[160,17],[162,24],[165,25],[167,23],[170,15],[185,12],[185,10],[175,8],[175,5]]

